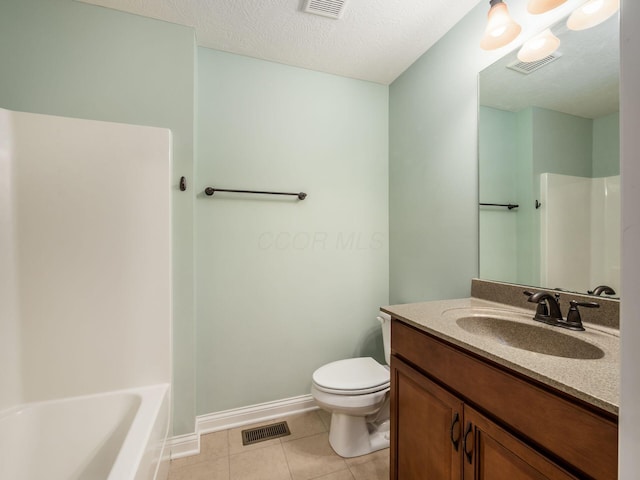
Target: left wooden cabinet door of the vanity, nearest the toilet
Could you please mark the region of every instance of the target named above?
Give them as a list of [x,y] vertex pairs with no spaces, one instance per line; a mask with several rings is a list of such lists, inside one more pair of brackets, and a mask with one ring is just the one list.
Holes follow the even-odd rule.
[[391,478],[462,478],[462,402],[398,360],[391,361]]

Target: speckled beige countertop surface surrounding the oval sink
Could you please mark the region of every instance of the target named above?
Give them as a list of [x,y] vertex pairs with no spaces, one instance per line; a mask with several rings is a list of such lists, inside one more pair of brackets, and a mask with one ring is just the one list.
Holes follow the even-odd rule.
[[[618,414],[620,337],[619,330],[615,328],[585,322],[585,331],[575,332],[536,322],[533,320],[531,310],[478,298],[392,305],[383,307],[381,310],[408,325],[605,411]],[[494,338],[479,333],[470,333],[469,328],[463,329],[457,323],[459,318],[481,316],[483,313],[486,316],[508,318],[510,321],[548,330],[542,332],[545,334],[542,338],[546,337],[544,340],[534,338],[538,330],[533,330],[534,333],[528,336],[527,342],[534,342],[533,344],[536,341],[548,342],[549,338],[553,339],[556,335],[568,335],[595,345],[604,352],[604,356],[594,359],[575,359],[537,353],[500,343]],[[566,339],[566,337],[558,338]]]

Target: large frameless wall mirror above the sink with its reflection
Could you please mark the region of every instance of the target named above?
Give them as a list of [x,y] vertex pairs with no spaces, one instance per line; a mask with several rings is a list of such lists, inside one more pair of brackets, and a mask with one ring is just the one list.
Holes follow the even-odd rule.
[[550,57],[480,73],[480,203],[505,205],[479,207],[480,277],[619,292],[618,16],[552,31]]

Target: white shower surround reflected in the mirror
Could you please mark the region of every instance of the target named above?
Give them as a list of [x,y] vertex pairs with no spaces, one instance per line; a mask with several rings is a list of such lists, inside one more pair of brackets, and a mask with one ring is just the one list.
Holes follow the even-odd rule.
[[620,291],[620,176],[540,176],[542,285]]

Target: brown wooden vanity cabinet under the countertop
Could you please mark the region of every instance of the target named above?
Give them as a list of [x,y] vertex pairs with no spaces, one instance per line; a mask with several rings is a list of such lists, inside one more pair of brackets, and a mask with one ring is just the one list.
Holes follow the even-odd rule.
[[617,478],[617,418],[398,320],[391,478]]

